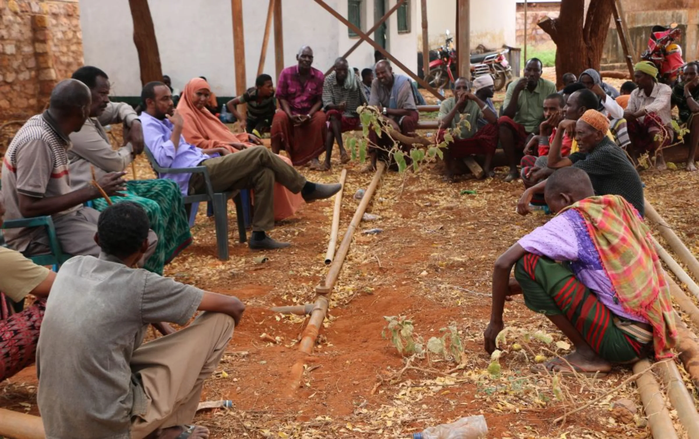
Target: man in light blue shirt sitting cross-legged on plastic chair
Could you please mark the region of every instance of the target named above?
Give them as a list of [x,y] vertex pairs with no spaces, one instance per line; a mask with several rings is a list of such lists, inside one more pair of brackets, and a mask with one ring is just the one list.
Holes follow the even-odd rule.
[[[184,120],[173,105],[170,88],[162,82],[149,82],[143,87],[141,99],[145,111],[140,115],[143,138],[159,166],[191,168],[206,166],[215,192],[254,189],[255,203],[252,214],[253,250],[271,250],[289,247],[266,235],[274,228],[274,183],[278,182],[294,194],[301,192],[309,203],[326,199],[338,192],[340,184],[312,183],[293,166],[284,163],[266,147],[250,147],[231,153],[224,148],[201,150],[185,141],[182,136]],[[182,194],[202,194],[206,191],[201,174],[162,174],[178,183]]]

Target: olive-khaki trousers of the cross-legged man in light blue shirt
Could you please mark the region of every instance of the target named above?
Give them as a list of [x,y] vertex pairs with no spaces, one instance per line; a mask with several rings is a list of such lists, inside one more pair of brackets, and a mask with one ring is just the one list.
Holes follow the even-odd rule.
[[[201,162],[209,171],[214,192],[253,189],[254,210],[252,230],[268,231],[274,228],[274,183],[286,187],[294,194],[301,192],[305,178],[294,166],[289,166],[264,146],[249,147],[223,157]],[[201,174],[193,174],[189,180],[195,194],[206,192]]]

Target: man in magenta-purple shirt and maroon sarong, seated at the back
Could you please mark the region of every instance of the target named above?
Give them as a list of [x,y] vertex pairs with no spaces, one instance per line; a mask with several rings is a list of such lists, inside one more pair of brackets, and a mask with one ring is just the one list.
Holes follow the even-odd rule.
[[318,168],[318,156],[325,150],[326,117],[323,105],[322,71],[311,67],[313,50],[303,46],[296,55],[298,65],[282,70],[277,82],[281,111],[272,120],[272,151],[285,150],[294,166],[309,161]]

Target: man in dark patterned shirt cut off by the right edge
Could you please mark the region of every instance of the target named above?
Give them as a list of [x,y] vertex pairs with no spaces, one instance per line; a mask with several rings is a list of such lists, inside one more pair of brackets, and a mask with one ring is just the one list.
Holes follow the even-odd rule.
[[[679,120],[689,129],[687,171],[696,171],[694,157],[699,145],[699,63],[689,62],[683,69],[684,80],[672,89],[671,102],[679,110]],[[686,145],[687,141],[685,141]]]

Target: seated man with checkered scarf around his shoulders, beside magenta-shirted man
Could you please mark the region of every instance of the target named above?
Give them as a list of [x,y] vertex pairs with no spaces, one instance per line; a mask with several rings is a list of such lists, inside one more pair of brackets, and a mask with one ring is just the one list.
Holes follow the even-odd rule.
[[359,76],[349,74],[347,59],[335,60],[335,69],[326,76],[323,83],[323,108],[330,122],[330,129],[325,139],[325,161],[318,169],[328,171],[333,144],[340,147],[340,162],[349,161],[349,155],[343,145],[343,133],[359,128],[359,114],[356,109],[366,104],[366,96],[360,84]]

